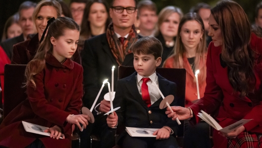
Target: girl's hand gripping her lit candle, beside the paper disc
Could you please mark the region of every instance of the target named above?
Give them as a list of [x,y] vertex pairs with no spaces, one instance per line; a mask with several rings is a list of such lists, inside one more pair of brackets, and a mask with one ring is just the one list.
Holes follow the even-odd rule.
[[68,115],[66,121],[70,124],[75,124],[79,129],[82,129],[80,124],[83,125],[84,128],[88,125],[88,121],[90,121],[90,117],[88,115],[80,114],[80,115]]

